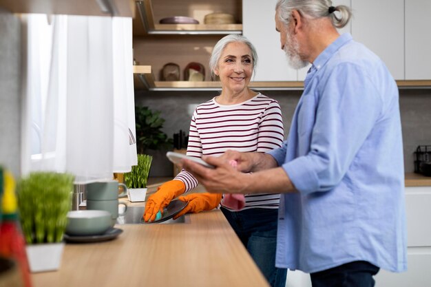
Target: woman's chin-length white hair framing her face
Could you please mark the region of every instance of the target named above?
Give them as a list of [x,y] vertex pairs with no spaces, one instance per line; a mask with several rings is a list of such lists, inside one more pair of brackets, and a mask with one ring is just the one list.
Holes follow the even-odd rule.
[[222,52],[224,48],[229,43],[234,42],[241,42],[249,46],[251,51],[251,60],[253,64],[253,74],[256,69],[257,65],[257,52],[253,44],[249,41],[249,39],[246,38],[246,36],[240,35],[240,34],[230,34],[227,36],[224,36],[220,41],[218,41],[214,48],[213,52],[211,53],[211,58],[209,59],[209,70],[211,71],[211,76],[215,77],[214,69],[217,67],[217,63],[220,60],[220,56],[222,56]]

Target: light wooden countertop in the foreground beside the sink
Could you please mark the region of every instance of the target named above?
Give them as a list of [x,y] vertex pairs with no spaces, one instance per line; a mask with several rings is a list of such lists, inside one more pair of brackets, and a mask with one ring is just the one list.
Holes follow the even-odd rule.
[[179,224],[125,224],[115,240],[66,244],[61,267],[33,273],[34,287],[265,286],[219,210]]

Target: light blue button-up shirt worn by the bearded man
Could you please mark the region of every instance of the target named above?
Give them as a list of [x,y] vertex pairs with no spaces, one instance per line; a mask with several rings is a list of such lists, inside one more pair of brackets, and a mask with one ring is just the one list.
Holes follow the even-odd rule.
[[397,85],[384,63],[343,34],[315,59],[288,140],[269,153],[299,193],[284,193],[278,267],[314,273],[364,260],[406,262]]

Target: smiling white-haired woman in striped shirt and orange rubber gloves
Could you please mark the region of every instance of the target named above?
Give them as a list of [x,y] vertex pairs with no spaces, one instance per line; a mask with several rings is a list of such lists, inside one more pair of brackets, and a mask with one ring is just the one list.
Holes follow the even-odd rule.
[[[224,36],[215,45],[209,67],[213,76],[220,77],[222,92],[196,107],[190,124],[188,156],[219,156],[227,149],[264,153],[282,145],[280,106],[248,87],[256,63],[255,48],[244,36]],[[183,169],[147,200],[144,220],[154,220],[171,200],[197,185],[198,180]],[[222,212],[271,286],[285,286],[287,270],[275,268],[280,195],[245,195],[240,211],[224,204],[218,193],[193,193],[179,200],[189,204],[176,218],[214,209],[221,201]]]

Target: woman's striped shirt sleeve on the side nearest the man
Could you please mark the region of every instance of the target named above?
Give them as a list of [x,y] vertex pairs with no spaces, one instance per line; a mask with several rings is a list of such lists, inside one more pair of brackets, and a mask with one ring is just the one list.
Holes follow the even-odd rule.
[[257,152],[266,152],[282,145],[284,139],[283,119],[280,105],[272,100],[266,107],[259,124]]

